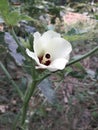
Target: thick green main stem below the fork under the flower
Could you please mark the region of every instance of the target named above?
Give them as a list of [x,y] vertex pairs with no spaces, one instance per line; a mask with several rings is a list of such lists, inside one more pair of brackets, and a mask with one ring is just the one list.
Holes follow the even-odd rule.
[[29,103],[29,100],[30,100],[32,94],[34,93],[36,85],[37,85],[37,82],[36,81],[32,81],[32,85],[30,86],[30,88],[28,88],[27,93],[25,94],[23,108],[22,108],[21,126],[23,126],[24,123],[25,123],[27,109],[28,109],[28,103]]

